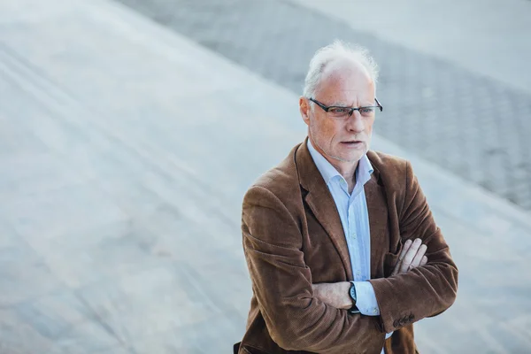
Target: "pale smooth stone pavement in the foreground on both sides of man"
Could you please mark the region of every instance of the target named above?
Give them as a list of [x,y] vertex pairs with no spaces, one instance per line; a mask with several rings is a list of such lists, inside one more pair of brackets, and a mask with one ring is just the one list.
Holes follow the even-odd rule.
[[[303,139],[297,96],[116,3],[4,0],[0,97],[0,353],[230,352],[242,195]],[[374,147],[412,161],[460,269],[420,350],[531,350],[528,212]]]

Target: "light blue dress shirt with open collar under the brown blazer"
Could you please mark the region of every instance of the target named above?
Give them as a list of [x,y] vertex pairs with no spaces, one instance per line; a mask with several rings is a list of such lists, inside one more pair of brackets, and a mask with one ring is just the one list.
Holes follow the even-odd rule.
[[[371,179],[373,165],[366,155],[359,160],[356,169],[356,185],[350,194],[347,181],[318,150],[315,150],[310,140],[308,140],[308,150],[319,173],[327,183],[337,212],[339,212],[349,248],[354,287],[356,287],[358,297],[356,301],[358,310],[366,316],[379,316],[380,308],[376,302],[373,285],[368,281],[371,279],[371,231],[364,189],[366,182]],[[387,334],[386,338],[390,335],[392,333]]]

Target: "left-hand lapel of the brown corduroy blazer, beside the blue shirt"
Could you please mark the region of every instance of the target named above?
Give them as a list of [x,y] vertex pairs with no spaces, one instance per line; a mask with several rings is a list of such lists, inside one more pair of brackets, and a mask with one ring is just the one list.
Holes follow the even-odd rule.
[[300,184],[308,191],[304,200],[334,243],[347,273],[347,279],[351,281],[354,278],[352,276],[352,266],[350,265],[349,248],[341,219],[339,218],[339,212],[337,212],[334,198],[330,194],[327,184],[313,162],[306,141],[299,146],[295,156]]

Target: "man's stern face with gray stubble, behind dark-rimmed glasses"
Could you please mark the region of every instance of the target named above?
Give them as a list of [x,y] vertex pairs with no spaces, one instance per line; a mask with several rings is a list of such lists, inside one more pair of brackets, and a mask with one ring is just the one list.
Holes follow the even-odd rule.
[[[321,76],[312,98],[327,106],[372,106],[375,105],[374,82],[361,65],[350,61],[332,63]],[[315,149],[332,165],[358,165],[369,149],[374,115],[367,118],[354,111],[347,119],[333,119],[306,97],[301,97],[299,104]]]

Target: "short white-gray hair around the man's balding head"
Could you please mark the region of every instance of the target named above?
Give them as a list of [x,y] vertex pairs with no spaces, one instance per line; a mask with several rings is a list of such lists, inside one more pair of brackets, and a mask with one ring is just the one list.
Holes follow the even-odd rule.
[[310,61],[310,68],[304,80],[304,96],[308,98],[315,96],[325,68],[328,64],[339,58],[348,58],[363,65],[374,82],[378,79],[378,65],[373,57],[369,55],[368,50],[335,40],[332,44],[328,44],[326,47],[317,50],[313,55]]

